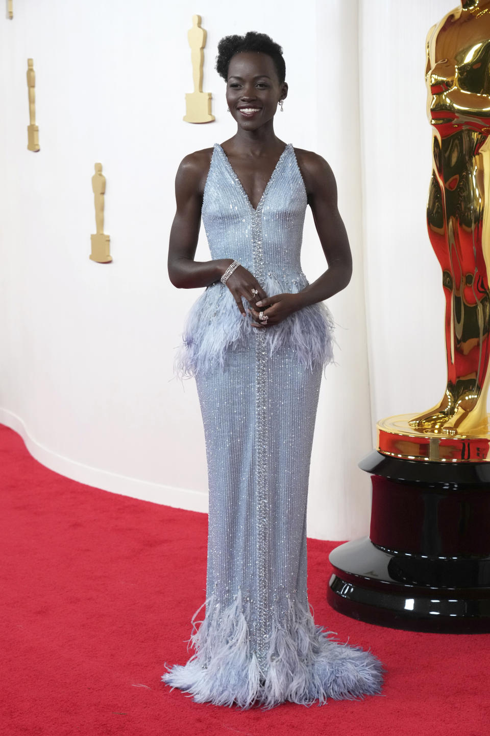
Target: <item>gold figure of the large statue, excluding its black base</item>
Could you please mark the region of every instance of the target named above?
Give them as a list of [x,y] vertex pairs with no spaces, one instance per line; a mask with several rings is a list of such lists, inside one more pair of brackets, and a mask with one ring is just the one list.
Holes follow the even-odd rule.
[[447,385],[428,411],[378,422],[378,450],[490,461],[490,0],[461,0],[430,29],[426,54],[427,224],[442,269]]

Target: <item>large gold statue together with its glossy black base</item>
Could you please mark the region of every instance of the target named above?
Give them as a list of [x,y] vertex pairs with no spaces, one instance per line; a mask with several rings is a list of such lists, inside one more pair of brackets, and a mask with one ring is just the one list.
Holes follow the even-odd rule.
[[447,385],[422,414],[378,422],[370,537],[330,556],[328,600],[419,631],[490,631],[490,0],[430,29],[428,234],[442,269]]

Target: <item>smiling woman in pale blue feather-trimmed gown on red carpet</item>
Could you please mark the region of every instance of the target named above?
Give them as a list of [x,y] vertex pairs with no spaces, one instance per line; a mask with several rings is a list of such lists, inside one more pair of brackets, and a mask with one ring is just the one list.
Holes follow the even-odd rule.
[[[223,38],[216,68],[237,132],[182,160],[168,259],[174,286],[207,286],[180,356],[206,438],[206,615],[195,654],[162,679],[195,701],[243,708],[378,693],[378,660],[329,639],[306,594],[311,443],[333,342],[321,302],[352,270],[334,176],[321,156],[275,136],[288,91],[277,43]],[[328,262],[311,285],[300,267],[307,204]],[[201,215],[213,260],[197,263]]]

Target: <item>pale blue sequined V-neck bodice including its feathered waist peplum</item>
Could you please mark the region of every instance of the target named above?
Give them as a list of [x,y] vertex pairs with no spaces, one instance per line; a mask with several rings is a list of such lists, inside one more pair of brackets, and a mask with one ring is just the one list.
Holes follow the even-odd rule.
[[[295,149],[287,144],[256,208],[220,144],[213,148],[204,187],[202,219],[213,259],[239,261],[268,296],[297,294],[308,286],[300,265],[307,205]],[[242,297],[245,308],[248,302]],[[177,371],[196,375],[223,365],[229,349],[249,344],[256,329],[244,319],[234,295],[220,280],[198,297],[187,316]],[[261,331],[264,350],[273,355],[287,344],[301,363],[311,366],[332,358],[333,319],[319,302]],[[251,343],[250,343],[251,344]]]

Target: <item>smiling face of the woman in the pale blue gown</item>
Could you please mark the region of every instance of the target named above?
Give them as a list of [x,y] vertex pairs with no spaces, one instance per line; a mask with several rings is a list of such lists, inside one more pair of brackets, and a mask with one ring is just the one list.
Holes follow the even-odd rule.
[[287,96],[279,84],[272,57],[262,52],[239,52],[231,57],[226,102],[231,115],[245,130],[255,130],[274,117],[278,102]]

